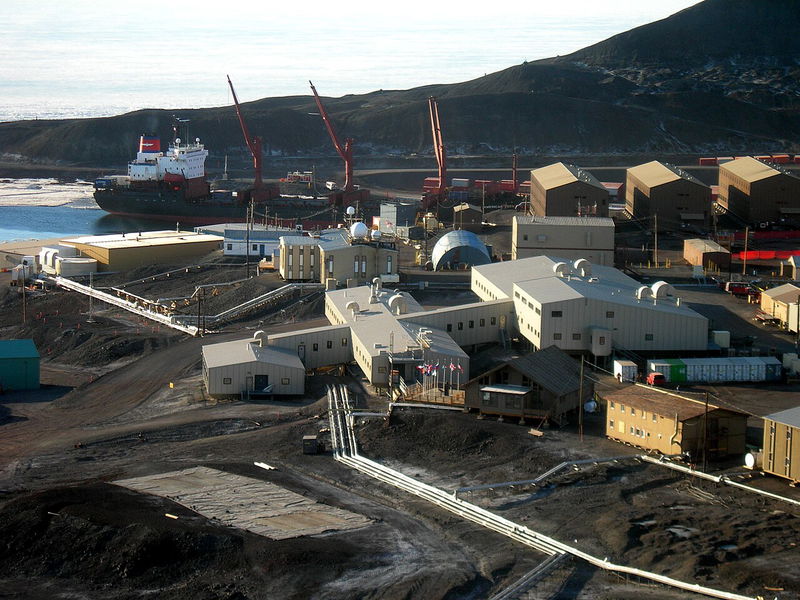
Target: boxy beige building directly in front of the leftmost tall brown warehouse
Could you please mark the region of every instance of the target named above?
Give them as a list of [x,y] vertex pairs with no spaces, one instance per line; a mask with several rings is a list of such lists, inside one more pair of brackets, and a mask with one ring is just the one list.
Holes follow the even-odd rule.
[[559,256],[614,265],[614,220],[607,217],[514,216],[511,258]]

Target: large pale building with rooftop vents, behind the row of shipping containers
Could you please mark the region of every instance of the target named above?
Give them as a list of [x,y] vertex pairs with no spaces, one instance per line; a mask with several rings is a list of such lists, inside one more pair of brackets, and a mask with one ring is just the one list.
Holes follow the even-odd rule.
[[642,285],[613,267],[537,256],[473,267],[472,291],[512,300],[516,327],[533,349],[608,356],[708,348],[708,320],[669,284]]

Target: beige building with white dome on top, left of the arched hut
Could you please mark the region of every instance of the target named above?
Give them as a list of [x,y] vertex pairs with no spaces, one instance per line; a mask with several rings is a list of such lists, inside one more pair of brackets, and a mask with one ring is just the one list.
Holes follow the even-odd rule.
[[398,252],[394,241],[381,234],[353,238],[345,229],[323,231],[319,235],[282,236],[278,270],[287,281],[325,283],[348,279],[367,283],[381,275],[397,274]]

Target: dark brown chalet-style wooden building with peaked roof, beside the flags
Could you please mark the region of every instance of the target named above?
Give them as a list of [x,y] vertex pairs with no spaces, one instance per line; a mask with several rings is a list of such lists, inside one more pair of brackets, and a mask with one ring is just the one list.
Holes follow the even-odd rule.
[[[564,413],[583,404],[580,388],[580,365],[550,346],[467,382],[464,406],[485,415],[560,423]],[[591,398],[592,384],[588,379],[583,393],[584,400]]]

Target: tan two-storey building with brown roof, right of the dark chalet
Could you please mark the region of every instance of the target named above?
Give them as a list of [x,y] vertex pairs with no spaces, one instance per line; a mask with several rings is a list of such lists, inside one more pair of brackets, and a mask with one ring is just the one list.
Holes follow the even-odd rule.
[[619,442],[662,454],[689,453],[693,461],[703,457],[722,459],[745,453],[747,415],[687,400],[674,394],[631,385],[603,393],[606,403],[606,435]]

